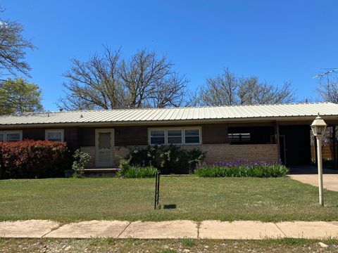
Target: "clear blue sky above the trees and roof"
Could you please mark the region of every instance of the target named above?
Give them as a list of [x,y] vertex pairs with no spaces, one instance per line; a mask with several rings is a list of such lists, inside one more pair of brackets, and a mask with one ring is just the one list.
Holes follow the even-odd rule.
[[86,60],[102,44],[123,56],[162,55],[195,89],[229,67],[316,100],[321,68],[338,67],[338,1],[64,1],[3,0],[4,18],[20,22],[37,46],[27,54],[44,108],[57,110],[70,59]]

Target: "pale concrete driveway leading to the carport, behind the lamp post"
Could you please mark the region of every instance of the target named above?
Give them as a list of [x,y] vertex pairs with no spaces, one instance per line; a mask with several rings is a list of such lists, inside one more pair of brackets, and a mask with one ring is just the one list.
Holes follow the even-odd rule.
[[[318,186],[318,174],[290,174],[290,178]],[[323,186],[327,190],[338,191],[338,174],[323,174]]]

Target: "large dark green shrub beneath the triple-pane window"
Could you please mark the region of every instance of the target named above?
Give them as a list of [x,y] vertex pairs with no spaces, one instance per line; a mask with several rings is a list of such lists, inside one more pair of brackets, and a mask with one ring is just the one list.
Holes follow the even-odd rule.
[[205,157],[206,153],[196,148],[183,150],[177,145],[154,145],[131,150],[127,161],[132,166],[154,166],[161,174],[190,174]]

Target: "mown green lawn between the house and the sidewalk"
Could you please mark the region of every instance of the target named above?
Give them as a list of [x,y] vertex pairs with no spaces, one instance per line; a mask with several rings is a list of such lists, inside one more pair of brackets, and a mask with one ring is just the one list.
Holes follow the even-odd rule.
[[[332,221],[338,193],[289,178],[161,177],[160,204],[154,210],[155,179],[35,179],[0,181],[0,220],[92,219],[163,221],[218,219]],[[164,209],[165,205],[176,205]]]

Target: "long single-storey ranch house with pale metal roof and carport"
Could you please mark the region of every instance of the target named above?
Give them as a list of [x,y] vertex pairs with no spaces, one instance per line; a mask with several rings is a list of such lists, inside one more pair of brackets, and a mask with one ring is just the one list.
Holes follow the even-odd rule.
[[318,112],[336,129],[334,103],[27,112],[0,117],[0,141],[65,141],[89,153],[92,168],[117,167],[128,148],[156,144],[200,148],[210,163],[300,165],[311,163],[310,124]]

